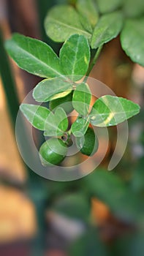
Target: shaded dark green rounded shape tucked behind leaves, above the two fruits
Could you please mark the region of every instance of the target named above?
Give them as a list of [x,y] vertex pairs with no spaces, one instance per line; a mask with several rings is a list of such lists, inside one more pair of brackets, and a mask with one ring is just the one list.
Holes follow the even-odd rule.
[[65,97],[62,97],[59,99],[53,99],[52,101],[50,101],[49,103],[50,110],[53,110],[56,107],[60,106],[61,108],[64,109],[64,111],[67,114],[71,113],[72,110],[74,109],[72,106],[72,94],[73,94],[73,91]]

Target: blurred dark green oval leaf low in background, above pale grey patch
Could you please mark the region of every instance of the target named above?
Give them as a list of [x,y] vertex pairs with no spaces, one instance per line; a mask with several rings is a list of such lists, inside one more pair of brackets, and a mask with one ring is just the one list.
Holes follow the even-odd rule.
[[58,214],[71,219],[88,220],[90,214],[90,204],[85,196],[80,192],[64,195],[58,198],[53,204],[52,209]]

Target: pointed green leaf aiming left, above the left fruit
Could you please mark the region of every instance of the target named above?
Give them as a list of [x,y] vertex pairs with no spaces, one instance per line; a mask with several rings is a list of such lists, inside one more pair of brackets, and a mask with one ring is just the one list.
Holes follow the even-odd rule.
[[48,108],[39,105],[21,104],[20,110],[33,127],[44,131],[45,121],[50,114]]

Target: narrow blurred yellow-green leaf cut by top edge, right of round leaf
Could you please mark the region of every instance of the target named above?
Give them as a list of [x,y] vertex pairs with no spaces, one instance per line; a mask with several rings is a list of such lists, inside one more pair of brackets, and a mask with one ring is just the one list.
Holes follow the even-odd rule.
[[83,27],[88,31],[92,31],[92,28],[96,25],[99,18],[99,14],[94,0],[77,0],[76,7],[80,15],[83,16]]

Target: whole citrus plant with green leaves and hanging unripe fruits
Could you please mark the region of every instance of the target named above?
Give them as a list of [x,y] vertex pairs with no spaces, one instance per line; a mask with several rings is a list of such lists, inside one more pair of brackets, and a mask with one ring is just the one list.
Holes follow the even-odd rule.
[[[72,136],[82,154],[93,155],[99,142],[91,126],[115,126],[139,113],[139,105],[111,95],[96,99],[91,107],[87,78],[102,46],[118,34],[126,54],[144,66],[143,3],[110,0],[107,5],[106,0],[77,0],[75,6],[56,5],[45,18],[45,31],[53,41],[64,42],[58,56],[38,39],[13,34],[7,40],[7,52],[18,66],[45,78],[33,91],[40,105],[20,105],[32,126],[49,137],[39,149],[42,165],[58,165],[67,155]],[[49,102],[49,108],[42,102]],[[77,118],[69,125],[72,110]]]

